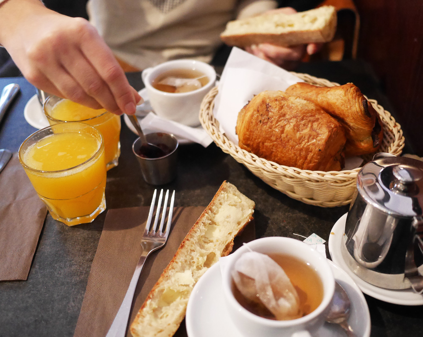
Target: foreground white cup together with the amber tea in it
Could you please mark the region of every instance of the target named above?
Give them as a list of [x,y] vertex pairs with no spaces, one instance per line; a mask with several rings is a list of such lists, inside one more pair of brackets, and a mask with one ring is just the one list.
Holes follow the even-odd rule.
[[[256,263],[254,255],[260,255],[262,261]],[[251,258],[252,263],[242,265]],[[309,337],[324,324],[334,293],[335,279],[326,258],[306,243],[291,238],[261,238],[238,249],[227,263],[222,272],[225,304],[229,317],[244,336]],[[283,272],[277,274],[277,268],[272,263],[277,268],[280,265]],[[242,268],[245,270],[241,274],[247,277],[240,282],[236,279],[236,273]],[[257,273],[264,274],[266,268],[269,268],[269,277]],[[263,285],[263,279],[266,282],[273,280],[274,283]],[[270,305],[263,305],[260,294],[256,294],[251,287],[258,289],[259,293],[260,287],[271,288],[275,298],[282,298],[282,293],[285,297]],[[269,301],[268,294],[264,301]]]

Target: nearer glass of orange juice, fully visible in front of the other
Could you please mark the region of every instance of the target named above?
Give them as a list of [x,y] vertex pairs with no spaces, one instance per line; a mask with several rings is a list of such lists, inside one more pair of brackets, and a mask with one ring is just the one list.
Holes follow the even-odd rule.
[[68,226],[93,221],[106,209],[106,161],[94,127],[60,123],[30,135],[19,161],[52,217]]

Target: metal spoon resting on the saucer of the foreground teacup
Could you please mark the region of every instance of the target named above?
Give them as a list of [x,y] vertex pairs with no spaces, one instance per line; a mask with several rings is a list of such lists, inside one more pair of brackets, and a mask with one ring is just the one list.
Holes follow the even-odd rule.
[[328,323],[339,324],[346,332],[348,337],[357,337],[348,324],[348,318],[351,309],[351,302],[343,287],[335,281],[335,292],[330,303],[329,312],[326,315]]

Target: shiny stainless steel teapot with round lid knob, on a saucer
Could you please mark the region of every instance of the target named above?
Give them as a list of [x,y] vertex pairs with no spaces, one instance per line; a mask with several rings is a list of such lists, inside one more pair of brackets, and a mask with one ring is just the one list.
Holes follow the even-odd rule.
[[423,162],[377,153],[357,176],[341,252],[361,279],[423,293]]

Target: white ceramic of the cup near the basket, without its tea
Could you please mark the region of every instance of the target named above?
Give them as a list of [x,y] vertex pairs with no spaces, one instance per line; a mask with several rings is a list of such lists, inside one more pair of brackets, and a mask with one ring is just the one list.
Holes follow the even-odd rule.
[[[157,76],[172,69],[198,70],[209,77],[209,82],[197,90],[181,93],[160,91],[151,85]],[[157,116],[192,127],[200,125],[198,113],[201,101],[216,81],[216,72],[212,66],[195,60],[174,60],[144,69],[141,77],[147,88],[150,104]]]

